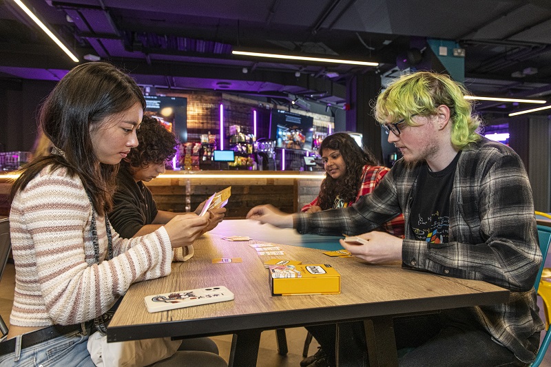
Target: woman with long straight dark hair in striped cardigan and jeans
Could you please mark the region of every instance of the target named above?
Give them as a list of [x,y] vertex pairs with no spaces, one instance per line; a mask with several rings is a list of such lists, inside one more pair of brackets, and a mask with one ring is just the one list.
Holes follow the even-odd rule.
[[107,63],[74,67],[43,103],[54,147],[12,185],[15,294],[0,366],[94,366],[92,326],[105,330],[103,315],[129,286],[168,275],[172,249],[207,226],[208,216],[187,214],[130,240],[112,229],[118,163],[138,144],[144,108],[134,80]]

